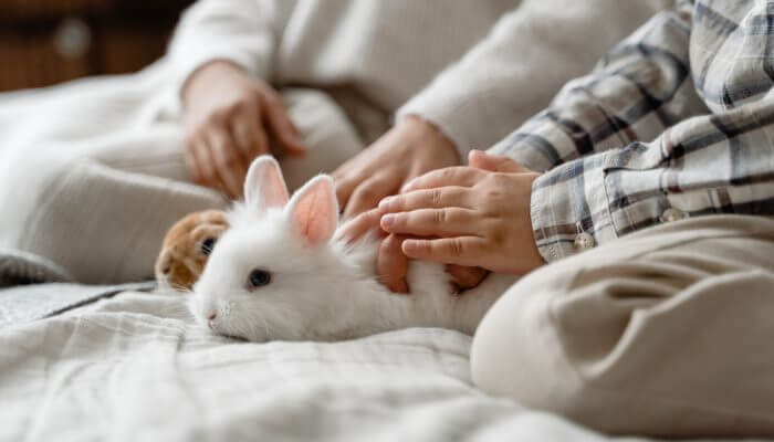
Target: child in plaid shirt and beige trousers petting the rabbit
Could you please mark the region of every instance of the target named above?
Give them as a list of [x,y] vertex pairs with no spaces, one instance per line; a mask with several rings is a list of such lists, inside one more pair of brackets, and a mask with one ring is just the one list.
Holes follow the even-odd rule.
[[475,334],[485,391],[611,433],[774,434],[773,14],[680,1],[349,234],[390,234],[393,287],[407,257],[526,274]]

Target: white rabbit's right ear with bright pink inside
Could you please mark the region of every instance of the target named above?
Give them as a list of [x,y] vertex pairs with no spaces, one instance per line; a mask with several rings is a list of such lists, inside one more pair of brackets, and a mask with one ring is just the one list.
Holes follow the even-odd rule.
[[338,224],[338,201],[333,179],[321,175],[293,194],[285,209],[292,229],[308,245],[327,242]]

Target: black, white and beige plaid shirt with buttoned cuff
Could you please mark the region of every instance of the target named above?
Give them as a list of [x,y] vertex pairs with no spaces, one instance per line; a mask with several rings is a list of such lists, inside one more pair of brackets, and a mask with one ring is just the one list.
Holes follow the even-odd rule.
[[774,1],[680,1],[490,151],[544,173],[546,261],[650,225],[774,215]]

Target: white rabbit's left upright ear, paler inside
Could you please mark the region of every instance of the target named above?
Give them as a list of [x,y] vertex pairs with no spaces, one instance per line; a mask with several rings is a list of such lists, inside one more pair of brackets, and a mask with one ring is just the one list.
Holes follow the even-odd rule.
[[269,155],[255,158],[244,179],[244,201],[259,211],[287,203],[287,187],[280,165]]

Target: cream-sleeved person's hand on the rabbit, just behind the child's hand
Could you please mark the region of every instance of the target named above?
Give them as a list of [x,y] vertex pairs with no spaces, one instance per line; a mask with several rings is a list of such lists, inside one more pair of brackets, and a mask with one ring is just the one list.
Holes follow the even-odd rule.
[[408,116],[333,172],[344,218],[375,208],[415,177],[459,164],[449,138],[432,124]]

